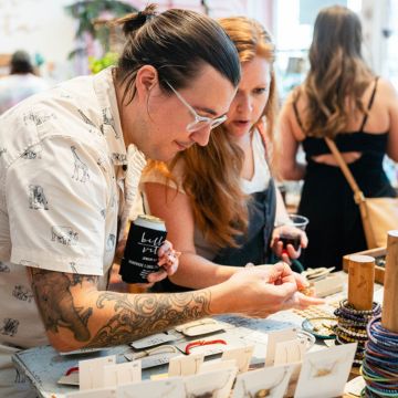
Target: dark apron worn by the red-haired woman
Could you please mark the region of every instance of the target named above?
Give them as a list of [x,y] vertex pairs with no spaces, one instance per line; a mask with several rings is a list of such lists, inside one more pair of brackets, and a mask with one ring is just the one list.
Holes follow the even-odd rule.
[[[254,265],[265,264],[269,261],[270,243],[275,223],[276,193],[273,179],[269,187],[251,195],[248,201],[249,227],[244,235],[235,238],[239,248],[223,248],[211,260],[216,264],[244,266],[251,262]],[[200,277],[200,271],[198,272]],[[150,291],[160,292],[185,292],[192,289],[174,284],[168,277],[156,283]]]

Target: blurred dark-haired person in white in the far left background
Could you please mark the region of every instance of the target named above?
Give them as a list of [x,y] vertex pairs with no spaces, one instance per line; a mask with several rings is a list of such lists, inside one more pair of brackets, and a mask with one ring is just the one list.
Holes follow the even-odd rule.
[[15,51],[11,56],[10,75],[0,78],[0,115],[48,87],[49,83],[34,74],[30,55],[25,51]]

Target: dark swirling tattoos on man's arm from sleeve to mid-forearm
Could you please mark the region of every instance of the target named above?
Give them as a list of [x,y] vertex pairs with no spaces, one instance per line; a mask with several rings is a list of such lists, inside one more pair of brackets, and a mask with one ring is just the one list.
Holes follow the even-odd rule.
[[[46,331],[59,333],[60,327],[65,327],[76,341],[87,343],[86,347],[126,344],[210,314],[209,291],[172,294],[97,292],[95,307],[80,307],[73,300],[73,289],[85,289],[83,284],[96,286],[98,276],[39,269],[31,269],[30,272]],[[113,315],[104,321],[102,310],[107,314],[113,311]],[[95,323],[102,326],[93,335],[90,329],[95,328]]]

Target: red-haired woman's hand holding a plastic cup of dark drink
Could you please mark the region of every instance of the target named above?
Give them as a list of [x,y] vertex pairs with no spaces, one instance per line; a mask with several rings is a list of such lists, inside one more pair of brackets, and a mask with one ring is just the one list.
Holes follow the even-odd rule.
[[[281,241],[281,235],[283,234],[292,234],[292,235],[300,235],[300,248],[295,250],[293,244],[287,244],[287,248],[283,249],[283,242]],[[308,238],[306,233],[292,226],[281,226],[274,228],[272,231],[272,239],[270,247],[272,248],[273,252],[282,259],[282,261],[286,262],[287,264],[291,263],[291,259],[297,259],[301,254],[301,248],[305,249],[308,244]]]

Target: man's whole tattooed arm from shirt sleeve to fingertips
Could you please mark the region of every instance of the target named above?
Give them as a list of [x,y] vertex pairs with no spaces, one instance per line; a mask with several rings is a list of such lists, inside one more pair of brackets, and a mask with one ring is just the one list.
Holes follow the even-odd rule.
[[282,308],[316,304],[315,298],[295,295],[297,285],[286,264],[243,269],[221,284],[169,294],[102,292],[96,276],[40,269],[30,273],[50,343],[62,352],[130,343],[209,315],[265,317]]

